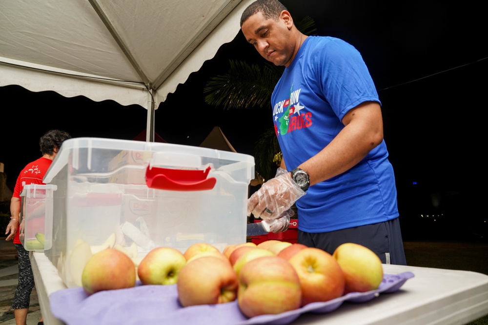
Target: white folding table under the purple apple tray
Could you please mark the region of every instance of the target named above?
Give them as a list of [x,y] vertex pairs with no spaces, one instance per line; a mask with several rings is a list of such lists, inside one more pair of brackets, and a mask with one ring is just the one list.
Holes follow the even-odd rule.
[[[43,252],[30,257],[44,324],[64,325],[52,315],[49,295],[66,287]],[[415,276],[394,293],[365,303],[344,302],[330,313],[305,313],[291,325],[463,325],[488,314],[486,274],[398,265],[383,265],[383,270]]]

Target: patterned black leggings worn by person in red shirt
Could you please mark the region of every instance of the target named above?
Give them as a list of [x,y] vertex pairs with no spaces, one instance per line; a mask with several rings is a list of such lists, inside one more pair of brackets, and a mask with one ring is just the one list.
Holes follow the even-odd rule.
[[29,252],[21,244],[14,244],[19,255],[19,284],[15,290],[12,309],[29,308],[30,294],[34,287],[34,275],[29,260]]

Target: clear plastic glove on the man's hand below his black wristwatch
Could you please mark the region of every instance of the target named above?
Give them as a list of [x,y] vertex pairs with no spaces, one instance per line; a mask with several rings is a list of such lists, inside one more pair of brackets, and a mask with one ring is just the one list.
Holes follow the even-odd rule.
[[291,179],[290,173],[282,173],[265,182],[251,195],[247,200],[247,216],[252,213],[256,218],[272,221],[304,195],[305,191]]

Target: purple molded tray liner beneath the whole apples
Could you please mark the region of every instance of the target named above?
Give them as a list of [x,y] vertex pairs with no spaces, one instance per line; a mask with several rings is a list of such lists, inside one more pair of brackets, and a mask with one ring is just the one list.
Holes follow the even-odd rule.
[[397,291],[414,275],[411,272],[385,274],[376,290],[351,292],[324,303],[312,303],[302,308],[277,315],[247,318],[239,310],[237,301],[219,304],[182,307],[176,285],[142,286],[107,290],[88,296],[83,288],[56,291],[49,296],[51,312],[66,325],[136,325],[136,324],[191,324],[191,325],[284,325],[305,312],[328,313],[345,301],[362,303],[380,293]]

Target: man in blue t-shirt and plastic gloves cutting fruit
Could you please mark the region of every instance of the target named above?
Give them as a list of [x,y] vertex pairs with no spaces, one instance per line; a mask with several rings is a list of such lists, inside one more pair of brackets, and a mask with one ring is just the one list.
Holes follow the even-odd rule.
[[[248,200],[247,213],[280,220],[296,202],[298,241],[329,253],[354,242],[383,263],[405,265],[381,102],[359,52],[344,40],[307,37],[277,0],[241,18],[246,40],[285,66],[271,96],[284,172]],[[306,194],[306,195],[305,195]],[[285,213],[286,214],[286,213]]]

